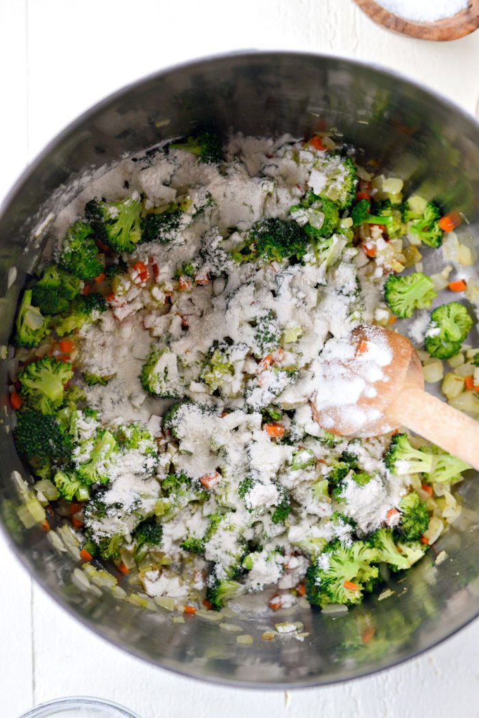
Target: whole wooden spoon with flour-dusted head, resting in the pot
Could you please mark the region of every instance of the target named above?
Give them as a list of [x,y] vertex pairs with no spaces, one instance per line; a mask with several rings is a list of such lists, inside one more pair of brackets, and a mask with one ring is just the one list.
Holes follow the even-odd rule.
[[338,365],[351,376],[364,375],[361,355],[367,351],[368,342],[378,342],[386,351],[389,349],[392,359],[381,366],[381,379],[366,385],[355,403],[354,409],[362,410],[365,416],[361,426],[352,421],[345,406],[325,407],[319,391],[311,401],[315,421],[328,432],[343,437],[373,437],[407,426],[479,470],[479,422],[424,391],[422,365],[409,339],[368,325],[353,330],[349,338],[354,358],[336,360],[335,376],[339,376]]

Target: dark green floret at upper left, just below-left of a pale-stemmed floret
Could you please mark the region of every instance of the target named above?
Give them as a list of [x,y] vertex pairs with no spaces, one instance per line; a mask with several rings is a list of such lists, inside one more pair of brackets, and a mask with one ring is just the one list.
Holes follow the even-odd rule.
[[62,243],[58,264],[78,279],[93,279],[103,271],[93,230],[85,222],[75,222]]

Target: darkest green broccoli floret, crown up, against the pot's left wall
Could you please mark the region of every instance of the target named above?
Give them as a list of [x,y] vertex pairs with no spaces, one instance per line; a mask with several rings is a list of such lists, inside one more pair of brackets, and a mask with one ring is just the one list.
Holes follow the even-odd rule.
[[29,460],[59,465],[70,462],[72,439],[54,416],[22,411],[17,416],[14,439],[17,452]]

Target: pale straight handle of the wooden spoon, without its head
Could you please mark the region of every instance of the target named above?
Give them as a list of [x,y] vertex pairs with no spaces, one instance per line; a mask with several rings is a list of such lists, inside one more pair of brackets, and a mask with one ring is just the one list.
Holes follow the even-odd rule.
[[479,421],[420,388],[401,390],[391,414],[398,422],[479,471]]

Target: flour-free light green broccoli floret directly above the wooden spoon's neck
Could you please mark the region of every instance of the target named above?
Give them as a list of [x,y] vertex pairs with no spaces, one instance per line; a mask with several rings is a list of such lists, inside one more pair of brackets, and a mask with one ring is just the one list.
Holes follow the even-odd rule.
[[426,274],[417,271],[408,276],[390,274],[384,284],[384,299],[396,317],[411,317],[414,309],[425,309],[437,297],[434,282]]

